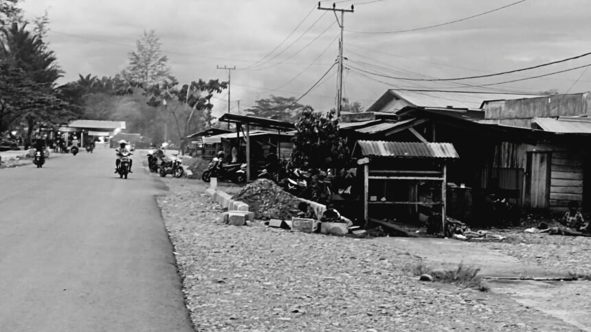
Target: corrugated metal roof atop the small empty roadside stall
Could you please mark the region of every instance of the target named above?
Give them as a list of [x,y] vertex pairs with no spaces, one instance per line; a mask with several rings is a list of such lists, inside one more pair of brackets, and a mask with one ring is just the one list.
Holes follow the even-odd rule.
[[460,158],[451,143],[357,141],[361,154],[390,158]]

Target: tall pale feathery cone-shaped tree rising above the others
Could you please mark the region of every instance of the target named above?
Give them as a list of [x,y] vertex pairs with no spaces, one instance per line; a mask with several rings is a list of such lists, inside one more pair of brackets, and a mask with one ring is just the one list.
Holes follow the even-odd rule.
[[129,54],[129,65],[122,72],[124,78],[142,84],[144,88],[170,82],[168,58],[160,55],[160,41],[155,30],[144,32],[135,44],[137,49]]

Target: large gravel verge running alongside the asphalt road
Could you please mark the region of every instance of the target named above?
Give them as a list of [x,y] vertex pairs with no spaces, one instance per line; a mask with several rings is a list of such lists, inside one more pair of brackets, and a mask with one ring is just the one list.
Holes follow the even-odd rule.
[[203,182],[163,180],[197,331],[579,331],[494,292],[422,283],[387,242],[221,224]]

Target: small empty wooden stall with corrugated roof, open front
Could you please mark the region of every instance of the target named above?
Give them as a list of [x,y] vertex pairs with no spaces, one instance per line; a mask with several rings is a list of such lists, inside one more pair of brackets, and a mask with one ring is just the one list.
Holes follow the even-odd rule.
[[451,143],[357,141],[363,174],[363,219],[368,222],[441,213],[446,219],[447,163],[459,158]]

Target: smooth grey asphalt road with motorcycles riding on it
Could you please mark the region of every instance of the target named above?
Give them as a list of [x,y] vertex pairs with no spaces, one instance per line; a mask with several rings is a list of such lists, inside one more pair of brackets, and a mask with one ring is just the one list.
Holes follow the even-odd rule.
[[192,331],[172,246],[142,169],[115,152],[0,169],[0,331]]

